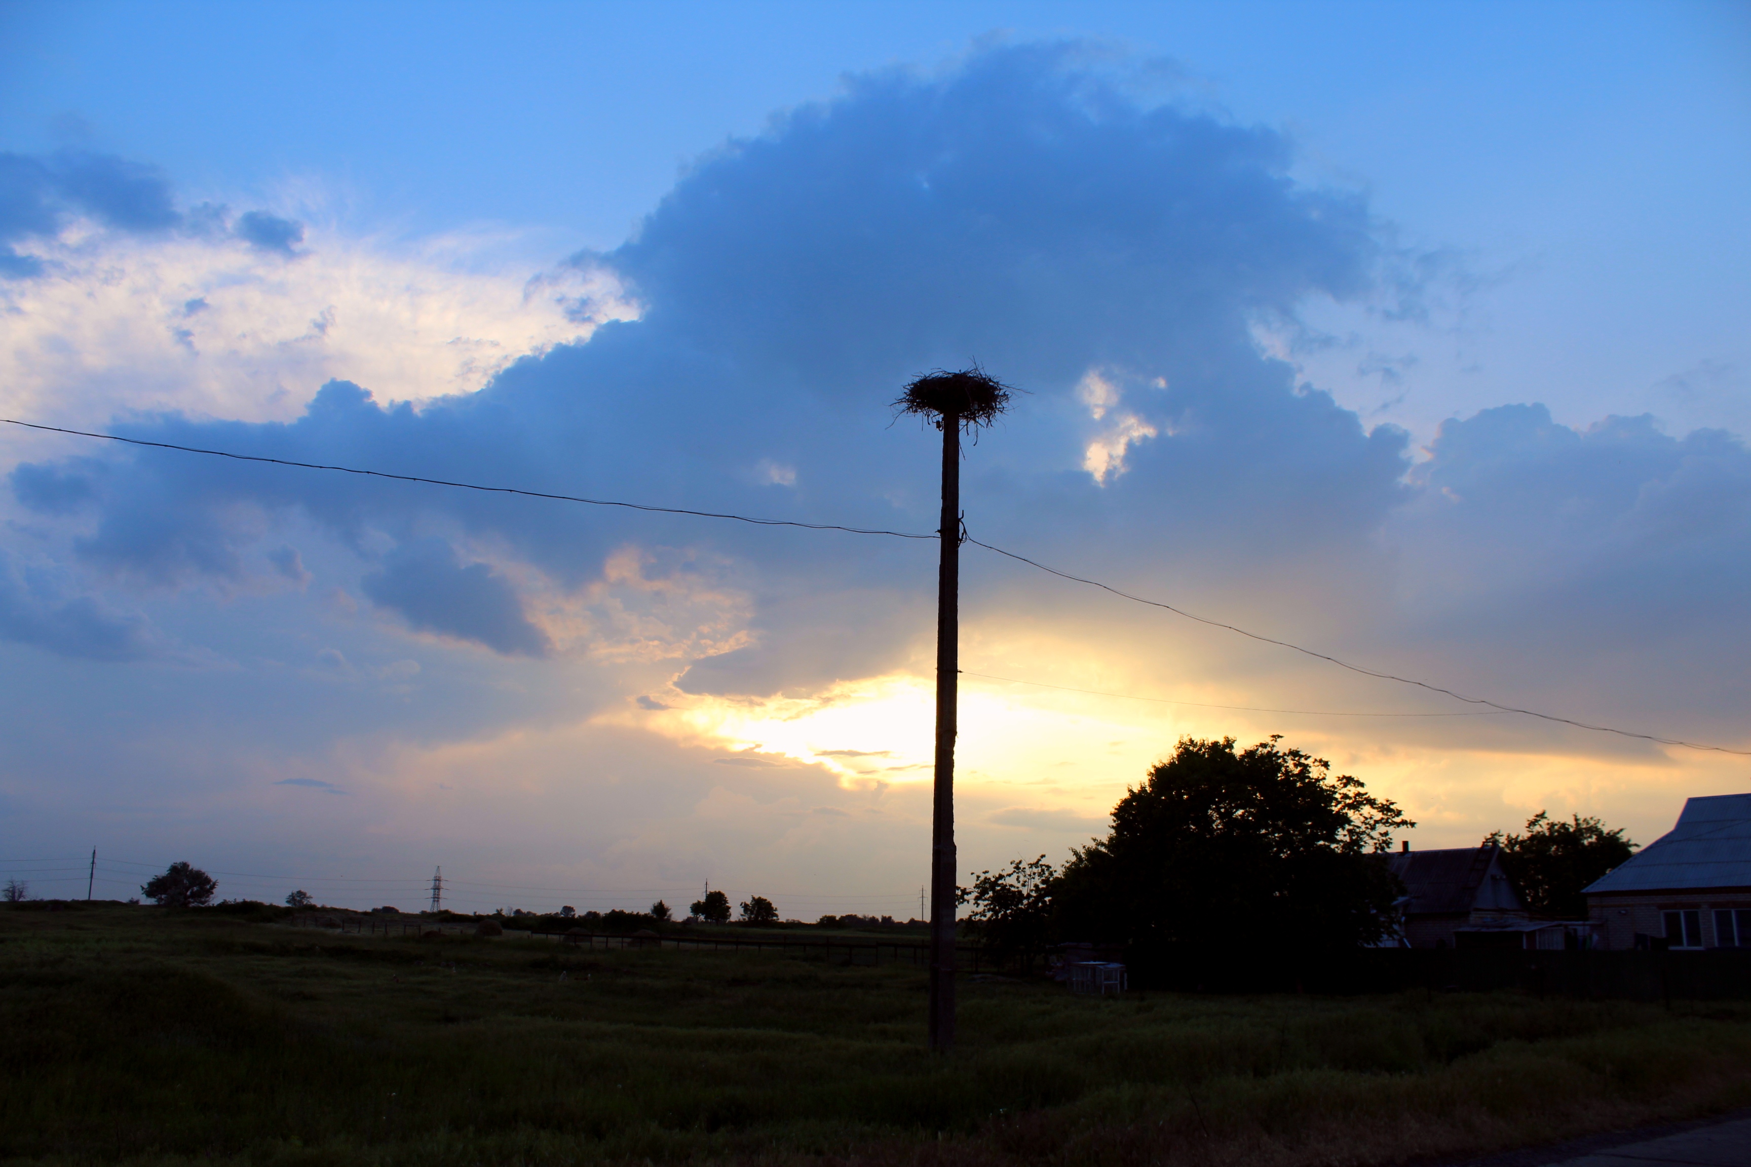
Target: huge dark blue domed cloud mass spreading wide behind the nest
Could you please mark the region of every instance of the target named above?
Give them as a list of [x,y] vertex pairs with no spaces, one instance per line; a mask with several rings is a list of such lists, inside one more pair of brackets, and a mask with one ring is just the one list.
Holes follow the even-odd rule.
[[[1432,660],[1443,668],[1464,651],[1476,595],[1530,612],[1574,609],[1586,591],[1595,625],[1634,588],[1651,607],[1688,597],[1697,619],[1721,611],[1718,590],[1677,584],[1658,563],[1744,576],[1733,439],[1625,420],[1578,434],[1536,409],[1488,411],[1450,423],[1411,472],[1401,430],[1369,430],[1261,353],[1255,325],[1308,297],[1406,287],[1364,201],[1296,182],[1290,163],[1280,133],[1138,101],[1075,47],[988,51],[940,77],[863,77],[702,159],[634,240],[573,261],[611,269],[644,306],[636,322],[418,409],[334,381],[292,423],[117,427],[305,462],[930,530],[935,437],[890,427],[884,404],[919,371],[979,359],[1030,390],[967,462],[968,523],[989,541],[1138,586],[1166,581],[1233,616],[1247,597],[1275,597],[1273,630],[1320,619],[1326,647],[1404,632],[1390,607],[1403,574],[1406,611],[1452,621],[1446,656]],[[1089,371],[1110,385],[1103,416],[1075,392]],[[1121,418],[1154,436],[1101,485],[1084,451]],[[21,469],[14,490],[44,514],[93,502],[79,555],[156,586],[240,581],[268,530],[299,514],[368,562],[378,604],[499,653],[550,646],[510,577],[464,558],[522,560],[574,588],[625,541],[716,549],[755,597],[756,644],[693,668],[683,684],[695,691],[868,675],[904,660],[909,630],[928,632],[928,542],[168,451],[102,478]],[[1007,602],[970,570],[970,607]],[[1539,626],[1572,640],[1590,635],[1583,625]]]

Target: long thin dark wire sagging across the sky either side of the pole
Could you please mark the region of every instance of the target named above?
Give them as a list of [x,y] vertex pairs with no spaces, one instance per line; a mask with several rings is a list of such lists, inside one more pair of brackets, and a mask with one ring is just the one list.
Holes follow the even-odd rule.
[[[650,511],[650,513],[657,513],[657,514],[690,514],[693,518],[721,518],[721,520],[732,520],[732,521],[737,521],[737,523],[753,523],[756,527],[797,527],[797,528],[802,528],[802,530],[842,530],[842,532],[853,534],[853,535],[890,535],[893,539],[937,539],[939,537],[937,532],[919,534],[919,532],[905,532],[905,530],[872,528],[872,527],[842,527],[839,523],[802,523],[802,521],[797,521],[797,520],[753,518],[753,516],[748,516],[748,514],[728,514],[728,513],[720,513],[720,511],[690,511],[686,507],[660,507],[660,506],[648,506],[648,504],[643,504],[643,502],[622,502],[622,500],[615,500],[615,499],[585,499],[581,495],[559,495],[559,493],[546,493],[546,492],[541,492],[541,490],[520,490],[517,486],[482,486],[478,483],[457,483],[457,481],[448,481],[448,479],[443,479],[443,478],[420,478],[417,474],[390,474],[387,471],[366,471],[366,469],[357,469],[357,467],[350,467],[350,465],[324,465],[324,464],[319,464],[319,462],[294,462],[291,458],[268,458],[268,457],[252,455],[252,453],[231,453],[229,450],[203,450],[200,446],[180,446],[177,443],[168,443],[168,441],[147,441],[144,437],[121,437],[117,434],[95,434],[95,432],[89,432],[89,430],[63,429],[60,425],[39,425],[35,422],[19,422],[16,418],[0,418],[0,422],[5,422],[9,425],[21,425],[25,429],[33,429],[33,430],[44,430],[44,432],[51,432],[51,434],[68,434],[68,436],[74,436],[74,437],[98,437],[98,439],[103,439],[103,441],[126,443],[130,446],[152,446],[152,448],[158,448],[158,450],[179,450],[182,453],[200,453],[200,455],[208,455],[208,457],[215,457],[215,458],[233,458],[236,462],[266,462],[266,464],[271,464],[271,465],[287,465],[287,467],[303,469],[303,471],[336,471],[336,472],[341,472],[341,474],[362,474],[362,476],[368,476],[368,478],[387,478],[387,479],[403,481],[403,483],[422,483],[422,485],[427,485],[427,486],[452,486],[452,488],[457,488],[457,490],[478,490],[478,492],[483,492],[483,493],[522,495],[525,499],[550,499],[550,500],[555,500],[555,502],[583,502],[583,504],[588,504],[588,506],[625,507],[625,509],[630,509],[630,511]],[[1462,693],[1455,693],[1453,689],[1446,689],[1443,686],[1431,684],[1427,681],[1417,681],[1415,677],[1399,677],[1399,675],[1389,674],[1389,672],[1376,672],[1373,668],[1364,668],[1362,665],[1352,665],[1350,661],[1340,660],[1336,656],[1329,656],[1326,653],[1317,653],[1313,649],[1301,647],[1299,644],[1290,644],[1289,640],[1278,640],[1275,637],[1266,637],[1266,635],[1261,635],[1257,632],[1247,632],[1245,628],[1224,623],[1220,619],[1208,619],[1205,616],[1198,616],[1194,612],[1187,612],[1185,609],[1175,607],[1171,604],[1163,604],[1161,600],[1147,600],[1147,598],[1143,598],[1140,595],[1131,595],[1129,591],[1121,591],[1119,588],[1114,588],[1112,584],[1103,584],[1098,579],[1087,579],[1084,576],[1072,576],[1070,572],[1058,570],[1056,567],[1047,567],[1045,563],[1040,563],[1038,560],[1030,560],[1026,555],[1016,555],[1014,551],[1005,551],[1003,548],[998,548],[998,546],[993,546],[989,542],[982,542],[979,539],[974,539],[972,535],[965,534],[965,528],[961,532],[961,539],[965,542],[970,542],[970,544],[977,546],[977,548],[984,548],[986,551],[995,551],[996,555],[1002,555],[1005,558],[1016,560],[1017,563],[1026,563],[1028,567],[1035,567],[1035,569],[1038,569],[1042,572],[1047,572],[1049,576],[1058,576],[1059,579],[1068,579],[1072,583],[1087,584],[1089,588],[1100,588],[1101,591],[1110,591],[1112,595],[1115,595],[1119,598],[1124,598],[1124,600],[1131,600],[1133,604],[1147,604],[1149,607],[1166,609],[1166,611],[1173,612],[1175,616],[1184,616],[1185,619],[1198,621],[1199,625],[1208,625],[1212,628],[1222,628],[1226,632],[1233,632],[1233,633],[1243,635],[1248,640],[1259,640],[1262,644],[1275,644],[1276,647],[1290,649],[1294,653],[1301,653],[1303,656],[1311,656],[1315,660],[1322,660],[1322,661],[1327,661],[1331,665],[1338,665],[1340,668],[1347,668],[1347,670],[1361,674],[1364,677],[1375,677],[1378,681],[1396,681],[1397,684],[1410,684],[1410,686],[1417,686],[1418,689],[1427,689],[1431,693],[1441,693],[1443,696],[1452,696],[1453,700],[1466,702],[1467,705],[1488,705],[1490,709],[1504,712],[1504,714],[1522,714],[1525,717],[1537,717],[1539,721],[1551,721],[1551,723],[1558,723],[1558,724],[1565,724],[1565,726],[1574,726],[1578,730],[1590,730],[1593,733],[1614,733],[1618,737],[1639,738],[1639,740],[1644,740],[1644,742],[1658,742],[1660,745],[1681,745],[1684,749],[1711,751],[1711,752],[1718,752],[1718,754],[1737,754],[1737,756],[1742,756],[1742,758],[1751,758],[1751,751],[1747,751],[1747,749],[1732,749],[1732,747],[1726,747],[1726,745],[1707,745],[1707,744],[1702,744],[1702,742],[1686,742],[1683,738],[1669,738],[1669,737],[1660,737],[1656,733],[1639,733],[1635,730],[1618,730],[1616,726],[1597,726],[1597,724],[1592,724],[1588,721],[1576,721],[1574,717],[1562,717],[1562,716],[1557,716],[1557,714],[1544,714],[1544,712],[1539,712],[1536,709],[1522,709],[1518,705],[1504,705],[1501,702],[1492,702],[1492,700],[1483,698],[1483,696],[1466,696]],[[1035,684],[1035,682],[1024,681],[1021,684]],[[1047,688],[1052,688],[1052,686],[1047,686]],[[1122,695],[1114,695],[1114,696],[1122,696]],[[1268,712],[1278,712],[1278,710],[1268,710]],[[1282,712],[1294,712],[1294,710],[1282,710]]]

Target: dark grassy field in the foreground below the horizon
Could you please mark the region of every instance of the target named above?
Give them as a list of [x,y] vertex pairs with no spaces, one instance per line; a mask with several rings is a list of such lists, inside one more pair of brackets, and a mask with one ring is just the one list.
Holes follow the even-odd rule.
[[904,964],[46,908],[0,908],[18,1164],[1397,1164],[1751,1102],[1739,1003],[968,982],[933,1059]]

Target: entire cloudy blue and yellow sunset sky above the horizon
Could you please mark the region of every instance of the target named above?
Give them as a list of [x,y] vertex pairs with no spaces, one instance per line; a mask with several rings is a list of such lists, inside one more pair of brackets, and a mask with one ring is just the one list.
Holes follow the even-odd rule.
[[[1751,7],[0,5],[4,416],[930,532],[967,875],[1283,735],[1751,789]],[[0,875],[916,915],[935,544],[0,427]]]

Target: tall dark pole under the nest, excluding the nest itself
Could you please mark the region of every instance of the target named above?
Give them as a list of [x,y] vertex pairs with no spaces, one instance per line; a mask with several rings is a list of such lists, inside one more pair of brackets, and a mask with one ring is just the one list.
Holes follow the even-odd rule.
[[930,1048],[954,1046],[954,735],[961,672],[961,416],[942,415],[937,527],[937,782],[930,814]]

